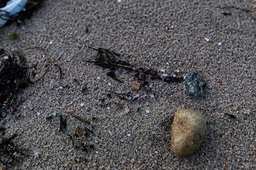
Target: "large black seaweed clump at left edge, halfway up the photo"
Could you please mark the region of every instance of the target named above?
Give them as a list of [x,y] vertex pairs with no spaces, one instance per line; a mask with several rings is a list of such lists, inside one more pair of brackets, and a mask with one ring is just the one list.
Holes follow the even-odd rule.
[[26,60],[21,54],[10,55],[0,49],[0,107],[6,100],[6,103],[9,103],[20,89],[31,83],[25,64]]

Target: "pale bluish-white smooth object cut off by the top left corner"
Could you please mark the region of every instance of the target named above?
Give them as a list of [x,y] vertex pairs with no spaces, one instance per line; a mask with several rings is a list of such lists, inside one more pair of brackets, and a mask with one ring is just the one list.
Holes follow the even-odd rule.
[[0,8],[0,27],[4,26],[11,16],[15,16],[21,10],[25,10],[26,0],[10,0],[6,6]]

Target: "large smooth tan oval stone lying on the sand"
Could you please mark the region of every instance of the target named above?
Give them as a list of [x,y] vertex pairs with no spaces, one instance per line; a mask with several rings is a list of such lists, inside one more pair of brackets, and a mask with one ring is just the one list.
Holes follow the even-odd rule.
[[188,157],[200,147],[206,137],[206,120],[201,113],[181,109],[174,115],[171,147],[178,157]]

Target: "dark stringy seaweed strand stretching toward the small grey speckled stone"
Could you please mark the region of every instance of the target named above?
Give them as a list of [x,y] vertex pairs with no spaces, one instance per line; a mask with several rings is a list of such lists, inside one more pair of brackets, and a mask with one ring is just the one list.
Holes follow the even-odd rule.
[[93,64],[96,64],[100,67],[110,69],[110,72],[107,72],[107,76],[112,77],[112,79],[122,82],[121,80],[117,79],[117,75],[115,72],[118,69],[127,69],[129,72],[134,72],[135,77],[137,77],[138,80],[143,81],[142,85],[148,84],[149,79],[159,79],[162,81],[166,81],[168,83],[170,82],[181,82],[183,81],[183,78],[181,77],[166,77],[164,79],[159,76],[159,73],[156,72],[155,69],[144,69],[136,67],[129,62],[125,62],[122,60],[119,60],[119,57],[121,57],[120,54],[117,52],[113,52],[111,50],[107,50],[104,48],[95,48],[95,47],[89,47],[92,50],[97,51],[97,56],[95,61],[87,61],[91,62]]

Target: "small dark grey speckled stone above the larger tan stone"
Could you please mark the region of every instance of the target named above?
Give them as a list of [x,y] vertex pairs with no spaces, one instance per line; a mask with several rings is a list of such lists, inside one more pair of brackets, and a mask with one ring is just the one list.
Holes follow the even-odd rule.
[[186,74],[183,80],[183,90],[188,96],[199,97],[203,94],[205,81],[195,70]]

